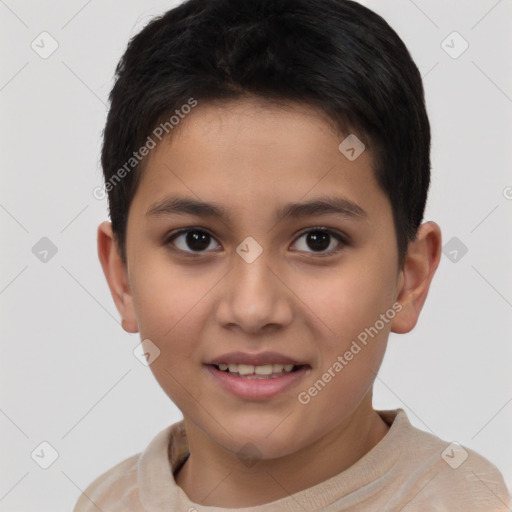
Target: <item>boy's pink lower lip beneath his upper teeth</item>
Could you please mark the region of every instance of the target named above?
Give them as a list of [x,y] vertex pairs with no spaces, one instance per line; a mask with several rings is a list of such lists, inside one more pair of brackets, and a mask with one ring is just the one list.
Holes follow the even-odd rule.
[[311,370],[308,366],[303,366],[294,372],[284,373],[280,377],[248,379],[221,372],[213,365],[205,365],[205,368],[222,388],[247,400],[272,398],[296,385]]

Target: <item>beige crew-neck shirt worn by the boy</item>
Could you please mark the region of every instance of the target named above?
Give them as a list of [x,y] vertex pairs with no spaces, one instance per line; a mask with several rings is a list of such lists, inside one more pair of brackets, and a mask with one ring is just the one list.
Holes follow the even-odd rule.
[[[388,433],[351,467],[324,482],[248,508],[190,501],[173,474],[188,456],[183,421],[141,453],[97,478],[74,512],[505,512],[510,497],[497,468],[468,448],[411,425],[402,409],[379,411]],[[466,458],[467,455],[467,458]]]

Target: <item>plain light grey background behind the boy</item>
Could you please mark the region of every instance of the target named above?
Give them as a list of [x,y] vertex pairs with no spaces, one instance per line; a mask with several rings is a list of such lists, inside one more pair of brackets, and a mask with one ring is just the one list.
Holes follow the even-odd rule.
[[[511,488],[512,2],[364,4],[424,76],[425,220],[444,244],[456,237],[416,329],[391,337],[375,407],[402,407],[417,427],[478,451]],[[115,65],[128,38],[173,5],[0,0],[1,511],[70,510],[100,473],[181,419],[134,357],[139,335],[120,326],[96,253],[106,200],[92,195]],[[58,43],[46,59],[31,47],[50,48],[43,31]],[[457,58],[453,31],[469,44]],[[43,237],[57,248],[46,262],[33,253]],[[43,441],[59,454],[48,469]]]

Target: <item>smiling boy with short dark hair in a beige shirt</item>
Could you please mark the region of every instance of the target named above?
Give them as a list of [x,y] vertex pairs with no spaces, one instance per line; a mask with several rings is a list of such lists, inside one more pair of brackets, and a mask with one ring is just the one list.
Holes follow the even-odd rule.
[[372,407],[441,251],[421,77],[387,23],[188,0],[130,41],[110,100],[98,254],[184,419],[75,512],[508,510],[490,462]]

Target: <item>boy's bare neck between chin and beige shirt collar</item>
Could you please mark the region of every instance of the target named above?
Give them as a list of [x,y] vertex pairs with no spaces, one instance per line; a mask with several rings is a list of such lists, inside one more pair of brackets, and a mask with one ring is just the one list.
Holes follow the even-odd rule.
[[176,474],[176,483],[191,501],[225,508],[261,505],[332,478],[368,453],[389,430],[371,407],[370,395],[346,421],[314,443],[245,466],[194,424],[185,420],[185,425],[190,456]]

